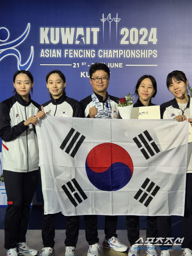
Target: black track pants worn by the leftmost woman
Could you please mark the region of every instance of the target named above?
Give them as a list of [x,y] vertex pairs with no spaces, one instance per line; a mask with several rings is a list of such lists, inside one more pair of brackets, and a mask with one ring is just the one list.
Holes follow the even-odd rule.
[[5,213],[5,249],[26,242],[30,204],[35,193],[39,171],[19,173],[3,170],[8,206]]

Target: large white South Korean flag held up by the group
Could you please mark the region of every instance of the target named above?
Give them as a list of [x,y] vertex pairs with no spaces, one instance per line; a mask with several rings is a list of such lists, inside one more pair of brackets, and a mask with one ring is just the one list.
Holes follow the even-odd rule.
[[183,215],[187,122],[47,116],[36,130],[46,213]]

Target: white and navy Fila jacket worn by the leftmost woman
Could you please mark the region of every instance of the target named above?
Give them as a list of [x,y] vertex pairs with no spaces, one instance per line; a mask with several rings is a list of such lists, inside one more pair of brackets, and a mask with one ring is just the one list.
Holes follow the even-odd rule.
[[35,128],[29,128],[23,123],[30,116],[35,116],[38,108],[39,104],[31,98],[26,102],[17,93],[0,103],[3,170],[16,172],[38,170],[39,149]]

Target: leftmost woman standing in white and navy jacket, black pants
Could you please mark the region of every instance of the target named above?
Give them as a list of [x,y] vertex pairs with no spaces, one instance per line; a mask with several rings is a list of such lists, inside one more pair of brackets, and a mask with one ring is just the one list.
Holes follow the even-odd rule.
[[35,124],[45,116],[30,97],[33,76],[19,70],[13,76],[15,95],[0,103],[2,167],[8,206],[5,213],[6,256],[36,255],[26,244],[30,204],[38,183]]

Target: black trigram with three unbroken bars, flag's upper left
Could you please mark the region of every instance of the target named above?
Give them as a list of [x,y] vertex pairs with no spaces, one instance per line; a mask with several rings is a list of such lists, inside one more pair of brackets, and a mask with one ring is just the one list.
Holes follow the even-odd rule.
[[[62,150],[64,150],[64,148],[66,147],[67,143],[69,142],[65,152],[67,154],[69,154],[69,152],[72,150],[72,148],[74,147],[74,144],[76,142],[76,140],[79,138],[80,133],[78,131],[76,131],[76,133],[74,134],[75,129],[71,128],[71,130],[69,131],[69,133],[67,134],[67,136],[65,137],[65,139],[63,140],[60,148]],[[74,134],[74,135],[73,135]],[[79,138],[79,140],[77,141],[77,144],[75,145],[73,151],[71,152],[70,156],[74,157],[78,151],[78,149],[80,148],[83,140],[85,139],[85,136],[81,135],[81,137]]]

